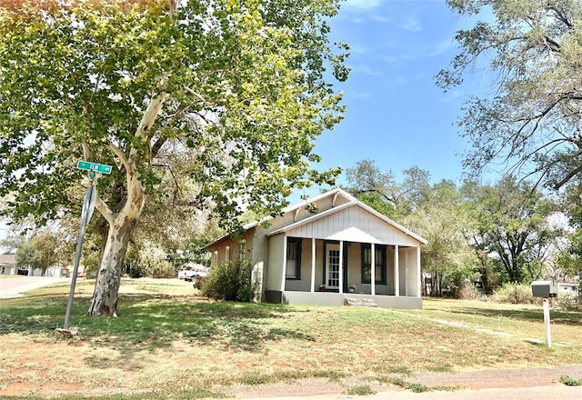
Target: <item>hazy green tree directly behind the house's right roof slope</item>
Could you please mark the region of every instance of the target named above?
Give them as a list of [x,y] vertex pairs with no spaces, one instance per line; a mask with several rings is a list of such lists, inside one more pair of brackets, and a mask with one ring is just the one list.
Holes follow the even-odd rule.
[[372,160],[346,169],[346,190],[366,205],[406,225],[428,241],[423,246],[423,272],[432,275],[430,293],[445,288],[455,295],[467,278],[477,275],[475,255],[466,232],[475,225],[457,185],[443,180],[430,185],[430,175],[416,166],[397,182],[391,171],[381,172]]

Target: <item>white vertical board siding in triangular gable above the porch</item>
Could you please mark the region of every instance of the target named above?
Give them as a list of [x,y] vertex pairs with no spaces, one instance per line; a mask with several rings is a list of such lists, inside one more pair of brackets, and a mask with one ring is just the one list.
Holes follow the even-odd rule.
[[383,245],[419,245],[413,237],[406,235],[395,226],[387,224],[376,215],[371,215],[357,205],[297,226],[288,230],[286,235]]

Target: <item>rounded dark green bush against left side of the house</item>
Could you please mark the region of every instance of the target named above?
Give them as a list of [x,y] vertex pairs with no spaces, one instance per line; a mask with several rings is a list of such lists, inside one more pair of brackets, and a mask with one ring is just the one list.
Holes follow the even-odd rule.
[[252,265],[246,260],[215,265],[204,280],[202,294],[216,300],[250,302],[255,295],[251,271]]

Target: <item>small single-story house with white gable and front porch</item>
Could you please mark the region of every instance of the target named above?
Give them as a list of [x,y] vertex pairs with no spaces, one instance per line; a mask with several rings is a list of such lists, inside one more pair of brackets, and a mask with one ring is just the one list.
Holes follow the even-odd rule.
[[341,189],[245,225],[237,237],[205,248],[211,265],[249,257],[256,299],[290,305],[360,299],[422,308],[420,247],[426,240]]

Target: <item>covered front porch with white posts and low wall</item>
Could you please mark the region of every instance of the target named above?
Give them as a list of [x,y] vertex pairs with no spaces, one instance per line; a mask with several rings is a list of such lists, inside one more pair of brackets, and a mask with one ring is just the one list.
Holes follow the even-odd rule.
[[[370,299],[385,308],[422,308],[420,243],[286,233],[269,237],[267,302],[344,305],[349,297]],[[361,232],[351,235],[352,239],[362,236]]]

